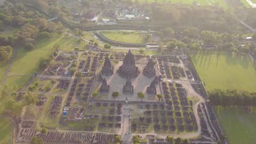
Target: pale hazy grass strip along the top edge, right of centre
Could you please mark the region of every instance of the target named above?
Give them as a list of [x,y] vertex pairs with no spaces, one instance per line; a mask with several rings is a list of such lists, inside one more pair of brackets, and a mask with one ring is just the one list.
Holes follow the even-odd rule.
[[[138,1],[139,2],[148,2],[148,3],[155,2],[155,0],[138,0]],[[172,0],[172,1],[170,1],[170,0],[158,0],[158,2],[161,2],[161,3],[184,3],[184,4],[193,4],[193,2],[197,2],[201,5],[213,5],[214,3],[218,3],[223,8],[227,7],[224,0],[197,0],[197,1],[193,1],[193,0]]]

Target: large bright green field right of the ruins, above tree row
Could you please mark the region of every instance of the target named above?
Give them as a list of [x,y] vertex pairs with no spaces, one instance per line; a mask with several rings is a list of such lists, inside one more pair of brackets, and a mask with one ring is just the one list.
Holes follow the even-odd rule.
[[191,58],[208,90],[220,88],[256,92],[256,70],[248,56],[194,54]]

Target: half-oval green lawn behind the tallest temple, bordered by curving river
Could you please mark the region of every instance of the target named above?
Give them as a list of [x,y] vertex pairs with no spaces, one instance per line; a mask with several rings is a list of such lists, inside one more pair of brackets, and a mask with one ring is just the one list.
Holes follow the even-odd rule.
[[144,34],[140,32],[124,31],[103,31],[102,34],[108,39],[125,43],[143,43]]

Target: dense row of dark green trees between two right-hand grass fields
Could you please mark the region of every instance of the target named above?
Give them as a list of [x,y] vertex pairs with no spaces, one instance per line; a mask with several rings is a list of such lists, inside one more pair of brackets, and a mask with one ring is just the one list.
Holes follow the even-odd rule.
[[236,89],[214,89],[210,91],[208,99],[212,105],[256,105],[256,93],[237,91]]

